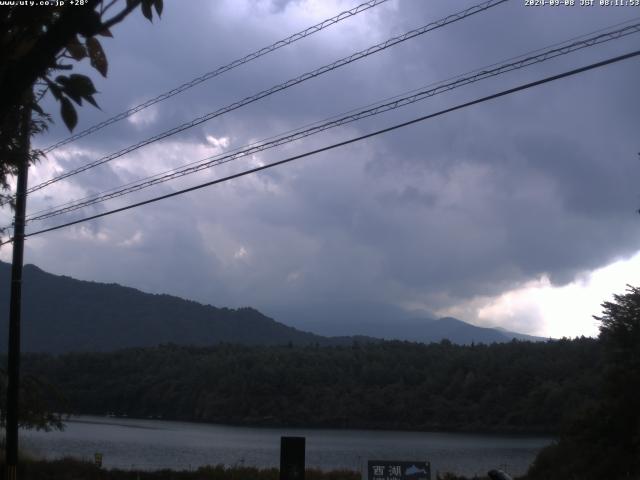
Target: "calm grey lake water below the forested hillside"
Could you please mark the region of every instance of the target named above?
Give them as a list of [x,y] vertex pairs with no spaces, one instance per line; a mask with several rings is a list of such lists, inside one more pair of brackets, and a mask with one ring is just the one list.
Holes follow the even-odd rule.
[[368,459],[427,460],[435,472],[524,473],[552,439],[465,433],[250,428],[164,420],[72,417],[63,432],[21,431],[21,448],[43,458],[92,460],[105,468],[196,469],[202,465],[278,467],[280,437],[306,437],[306,463],[322,470],[366,470]]

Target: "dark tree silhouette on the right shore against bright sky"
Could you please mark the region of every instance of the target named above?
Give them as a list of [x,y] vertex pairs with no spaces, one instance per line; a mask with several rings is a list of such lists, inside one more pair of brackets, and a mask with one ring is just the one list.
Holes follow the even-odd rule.
[[640,478],[640,289],[602,304],[602,381],[559,441],[540,452],[527,478]]

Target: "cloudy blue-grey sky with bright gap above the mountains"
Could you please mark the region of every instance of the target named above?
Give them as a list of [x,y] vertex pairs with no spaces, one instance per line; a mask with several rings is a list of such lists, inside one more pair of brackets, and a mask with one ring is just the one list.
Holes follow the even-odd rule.
[[[578,2],[579,3],[579,2]],[[352,0],[165,1],[86,60],[100,109],[76,131],[310,25]],[[60,147],[29,185],[474,5],[390,0]],[[637,7],[510,0],[34,193],[29,212],[422,88],[621,22]],[[635,22],[634,22],[635,23]],[[457,88],[64,217],[83,218],[340,142],[637,49],[640,34]],[[25,263],[289,325],[454,316],[544,337],[597,335],[600,304],[640,285],[640,60],[627,60],[127,212],[30,237]],[[46,147],[66,138],[55,103]],[[9,223],[9,212],[2,212]],[[0,259],[10,261],[10,248]],[[355,327],[354,327],[355,328]],[[352,333],[359,333],[353,331]]]

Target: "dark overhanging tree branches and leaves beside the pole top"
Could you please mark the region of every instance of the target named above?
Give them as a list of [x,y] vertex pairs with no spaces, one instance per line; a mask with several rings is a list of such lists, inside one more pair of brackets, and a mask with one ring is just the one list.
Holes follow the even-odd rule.
[[[24,3],[24,5],[22,5]],[[68,2],[67,2],[68,3]],[[163,0],[83,0],[82,5],[16,5],[0,8],[0,200],[12,203],[8,177],[16,175],[23,161],[20,114],[32,115],[31,133],[46,130],[50,114],[40,106],[47,93],[60,104],[60,115],[69,130],[78,121],[75,105],[83,100],[97,107],[97,93],[86,75],[69,73],[87,58],[102,76],[108,61],[98,40],[111,36],[110,28],[140,7],[153,19],[152,7],[162,13]],[[113,9],[117,13],[111,13]],[[61,74],[61,72],[66,72]],[[32,151],[29,162],[41,152]],[[3,192],[4,191],[4,192]],[[0,232],[2,233],[2,232]]]

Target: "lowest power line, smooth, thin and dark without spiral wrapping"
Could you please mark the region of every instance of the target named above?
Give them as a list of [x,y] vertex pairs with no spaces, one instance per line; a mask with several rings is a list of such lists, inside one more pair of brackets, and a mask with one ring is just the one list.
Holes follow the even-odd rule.
[[[109,210],[107,212],[103,212],[103,213],[99,213],[99,214],[96,214],[96,215],[92,215],[90,217],[86,217],[86,218],[83,218],[83,219],[80,219],[80,220],[75,220],[75,221],[72,221],[72,222],[63,223],[61,225],[56,225],[54,227],[49,227],[49,228],[45,228],[45,229],[38,230],[38,231],[35,231],[35,232],[31,232],[31,233],[26,234],[25,237],[32,237],[34,235],[40,235],[42,233],[47,233],[47,232],[51,232],[51,231],[54,231],[54,230],[59,230],[61,228],[69,227],[69,226],[72,226],[72,225],[77,225],[79,223],[88,222],[90,220],[95,220],[95,219],[101,218],[101,217],[106,217],[108,215],[113,215],[115,213],[123,212],[125,210],[130,210],[130,209],[133,209],[133,208],[141,207],[143,205],[148,205],[150,203],[155,203],[155,202],[158,202],[160,200],[165,200],[167,198],[176,197],[178,195],[183,195],[183,194],[188,193],[188,192],[192,192],[192,191],[195,191],[195,190],[200,190],[200,189],[205,188],[205,187],[209,187],[209,186],[216,185],[216,184],[219,184],[219,183],[227,182],[229,180],[233,180],[233,179],[236,179],[236,178],[244,177],[246,175],[249,175],[249,174],[252,174],[252,173],[256,173],[256,172],[259,172],[259,171],[262,171],[262,170],[267,170],[269,168],[273,168],[273,167],[276,167],[278,165],[283,165],[285,163],[289,163],[289,162],[292,162],[294,160],[299,160],[301,158],[309,157],[311,155],[316,155],[318,153],[326,152],[328,150],[333,150],[335,148],[343,147],[345,145],[349,145],[349,144],[352,144],[352,143],[356,143],[356,142],[365,140],[367,138],[371,138],[371,137],[375,137],[377,135],[381,135],[383,133],[387,133],[387,132],[391,132],[393,130],[397,130],[397,129],[400,129],[400,128],[403,128],[403,127],[407,127],[409,125],[413,125],[414,123],[423,122],[425,120],[429,120],[431,118],[435,118],[435,117],[438,117],[438,116],[441,116],[441,115],[444,115],[446,113],[450,113],[450,112],[453,112],[453,111],[456,111],[456,110],[461,110],[463,108],[467,108],[467,107],[470,107],[472,105],[477,105],[479,103],[487,102],[489,100],[494,100],[496,98],[503,97],[503,96],[506,96],[506,95],[510,95],[512,93],[516,93],[516,92],[519,92],[519,91],[522,91],[522,90],[527,90],[529,88],[536,87],[538,85],[542,85],[542,84],[545,84],[545,83],[553,82],[553,81],[559,80],[561,78],[570,77],[570,76],[573,76],[573,75],[577,75],[579,73],[586,72],[588,70],[593,70],[593,69],[596,69],[596,68],[604,67],[606,65],[610,65],[610,64],[617,63],[617,62],[620,62],[620,61],[623,61],[623,60],[627,60],[627,59],[636,57],[638,55],[640,55],[640,50],[636,50],[634,52],[630,52],[630,53],[627,53],[625,55],[619,55],[617,57],[609,58],[609,59],[603,60],[601,62],[592,63],[590,65],[587,65],[587,66],[584,66],[584,67],[580,67],[580,68],[576,68],[576,69],[573,69],[573,70],[569,70],[569,71],[564,72],[564,73],[560,73],[560,74],[553,75],[553,76],[550,76],[550,77],[545,77],[545,78],[543,78],[541,80],[536,80],[535,82],[525,83],[525,84],[519,85],[517,87],[513,87],[513,88],[510,88],[510,89],[507,89],[507,90],[502,90],[501,92],[494,93],[494,94],[488,95],[486,97],[482,97],[482,98],[479,98],[479,99],[476,99],[476,100],[472,100],[470,102],[466,102],[466,103],[462,103],[462,104],[456,105],[454,107],[450,107],[450,108],[447,108],[447,109],[444,109],[444,110],[440,110],[440,111],[438,111],[436,113],[431,113],[431,114],[428,114],[428,115],[424,115],[422,117],[414,118],[413,120],[409,120],[407,122],[403,122],[403,123],[399,123],[399,124],[396,124],[396,125],[392,125],[391,127],[383,128],[381,130],[376,130],[374,132],[371,132],[371,133],[368,133],[368,134],[365,134],[365,135],[361,135],[361,136],[358,136],[358,137],[354,137],[354,138],[351,138],[349,140],[345,140],[345,141],[342,141],[342,142],[334,143],[332,145],[328,145],[326,147],[322,147],[322,148],[319,148],[319,149],[316,149],[316,150],[305,152],[305,153],[302,153],[300,155],[295,155],[293,157],[285,158],[284,160],[279,160],[277,162],[273,162],[273,163],[270,163],[268,165],[263,165],[261,167],[255,167],[255,168],[252,168],[252,169],[249,169],[249,170],[245,170],[245,171],[240,172],[240,173],[229,175],[229,176],[224,177],[224,178],[219,178],[217,180],[212,180],[210,182],[201,183],[201,184],[193,186],[193,187],[189,187],[189,188],[185,188],[183,190],[179,190],[179,191],[176,191],[176,192],[168,193],[166,195],[161,195],[161,196],[158,196],[158,197],[154,197],[154,198],[151,198],[151,199],[148,199],[148,200],[144,200],[142,202],[138,202],[138,203],[134,203],[134,204],[131,204],[131,205],[127,205],[125,207]],[[4,244],[10,243],[12,241],[13,241],[13,238],[10,238],[10,239],[0,243],[0,245],[4,245]]]

